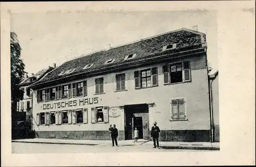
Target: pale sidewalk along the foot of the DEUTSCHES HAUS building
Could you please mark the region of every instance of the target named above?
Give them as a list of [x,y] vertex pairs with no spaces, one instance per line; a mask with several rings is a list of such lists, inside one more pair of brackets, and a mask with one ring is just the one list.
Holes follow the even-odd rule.
[[[12,140],[17,143],[45,143],[45,144],[68,144],[68,145],[89,145],[89,146],[112,146],[112,142],[102,140],[65,140],[51,138],[29,138]],[[119,146],[147,146],[153,147],[153,141],[138,140],[138,143],[133,143],[133,140],[118,141]],[[159,142],[162,149],[189,149],[189,150],[220,150],[220,143],[209,142]]]

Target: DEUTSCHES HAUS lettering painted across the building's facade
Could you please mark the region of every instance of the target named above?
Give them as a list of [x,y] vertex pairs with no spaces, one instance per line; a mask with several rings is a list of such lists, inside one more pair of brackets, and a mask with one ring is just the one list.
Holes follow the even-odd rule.
[[82,105],[97,104],[98,102],[99,102],[98,97],[94,97],[94,98],[86,98],[86,99],[79,99],[79,100],[62,101],[58,103],[43,104],[42,109],[82,106]]

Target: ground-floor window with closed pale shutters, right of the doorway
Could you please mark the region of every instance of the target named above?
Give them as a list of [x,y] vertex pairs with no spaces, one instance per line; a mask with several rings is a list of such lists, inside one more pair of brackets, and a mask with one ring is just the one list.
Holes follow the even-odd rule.
[[184,99],[172,100],[172,120],[186,120]]

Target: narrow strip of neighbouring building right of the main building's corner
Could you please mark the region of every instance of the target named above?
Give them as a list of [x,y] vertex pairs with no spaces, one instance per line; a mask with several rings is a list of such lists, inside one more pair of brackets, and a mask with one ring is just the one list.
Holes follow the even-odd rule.
[[220,142],[220,123],[219,123],[219,71],[209,75],[211,113],[212,113],[212,139],[213,142]]

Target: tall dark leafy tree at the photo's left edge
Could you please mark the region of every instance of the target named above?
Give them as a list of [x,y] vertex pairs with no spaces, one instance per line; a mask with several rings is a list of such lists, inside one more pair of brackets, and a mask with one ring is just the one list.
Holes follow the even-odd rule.
[[24,79],[25,64],[20,58],[22,48],[16,33],[11,32],[11,101],[12,112],[16,111],[17,102],[23,100],[24,92],[20,90],[19,83]]

